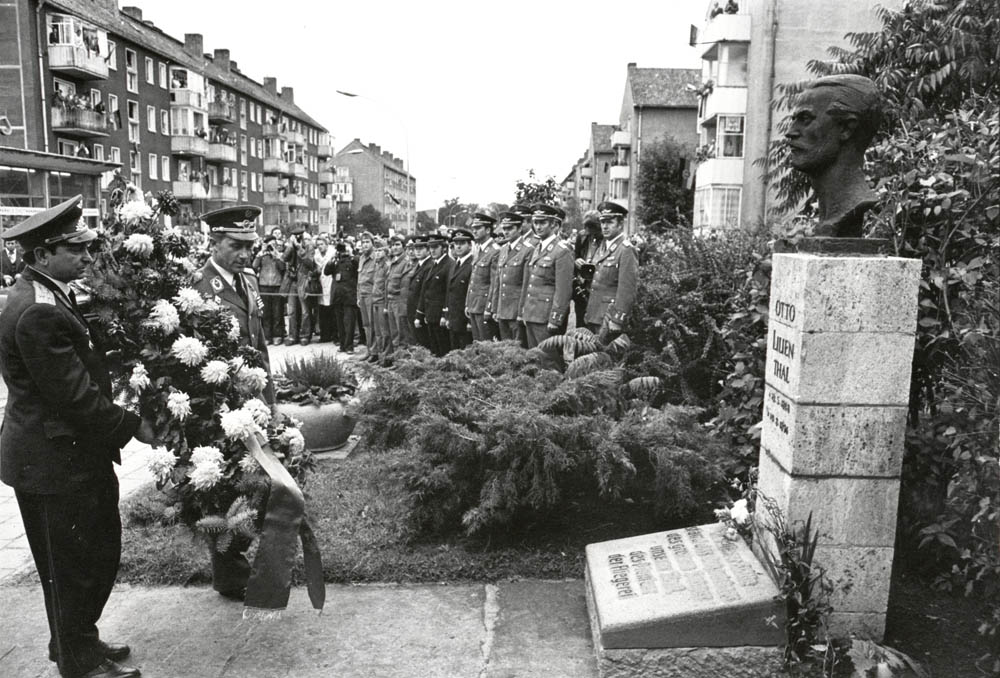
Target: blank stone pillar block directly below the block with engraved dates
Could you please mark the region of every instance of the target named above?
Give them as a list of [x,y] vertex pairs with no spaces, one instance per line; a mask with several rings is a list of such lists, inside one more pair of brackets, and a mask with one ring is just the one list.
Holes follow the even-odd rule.
[[821,544],[895,543],[898,479],[791,475],[762,449],[757,488],[778,503],[789,527],[804,525],[811,512]]

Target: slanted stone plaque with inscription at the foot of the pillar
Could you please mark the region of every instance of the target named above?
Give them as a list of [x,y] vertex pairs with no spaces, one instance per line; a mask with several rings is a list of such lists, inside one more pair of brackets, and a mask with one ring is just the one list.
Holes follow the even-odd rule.
[[778,590],[720,524],[587,546],[605,649],[779,645]]

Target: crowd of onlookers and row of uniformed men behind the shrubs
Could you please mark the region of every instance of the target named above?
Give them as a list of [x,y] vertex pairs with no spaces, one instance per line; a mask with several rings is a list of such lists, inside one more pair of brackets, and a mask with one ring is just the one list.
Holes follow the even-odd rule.
[[411,238],[274,228],[252,264],[265,337],[274,345],[336,342],[376,362],[413,344],[437,356],[473,341],[532,348],[564,333],[575,313],[577,327],[610,341],[638,285],[627,214],[602,203],[570,238],[564,212],[544,204],[477,213],[467,228]]

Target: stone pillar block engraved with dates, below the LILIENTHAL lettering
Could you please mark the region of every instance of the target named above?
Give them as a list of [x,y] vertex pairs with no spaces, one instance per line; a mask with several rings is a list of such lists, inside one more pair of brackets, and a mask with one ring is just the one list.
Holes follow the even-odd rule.
[[791,474],[898,477],[905,407],[799,405],[764,388],[761,440]]

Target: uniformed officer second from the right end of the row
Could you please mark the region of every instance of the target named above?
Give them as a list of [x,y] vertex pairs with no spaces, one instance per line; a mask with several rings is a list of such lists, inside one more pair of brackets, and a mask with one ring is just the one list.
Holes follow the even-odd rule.
[[564,332],[573,294],[573,252],[559,239],[566,214],[558,207],[532,207],[531,223],[538,244],[524,267],[520,319],[528,348]]

